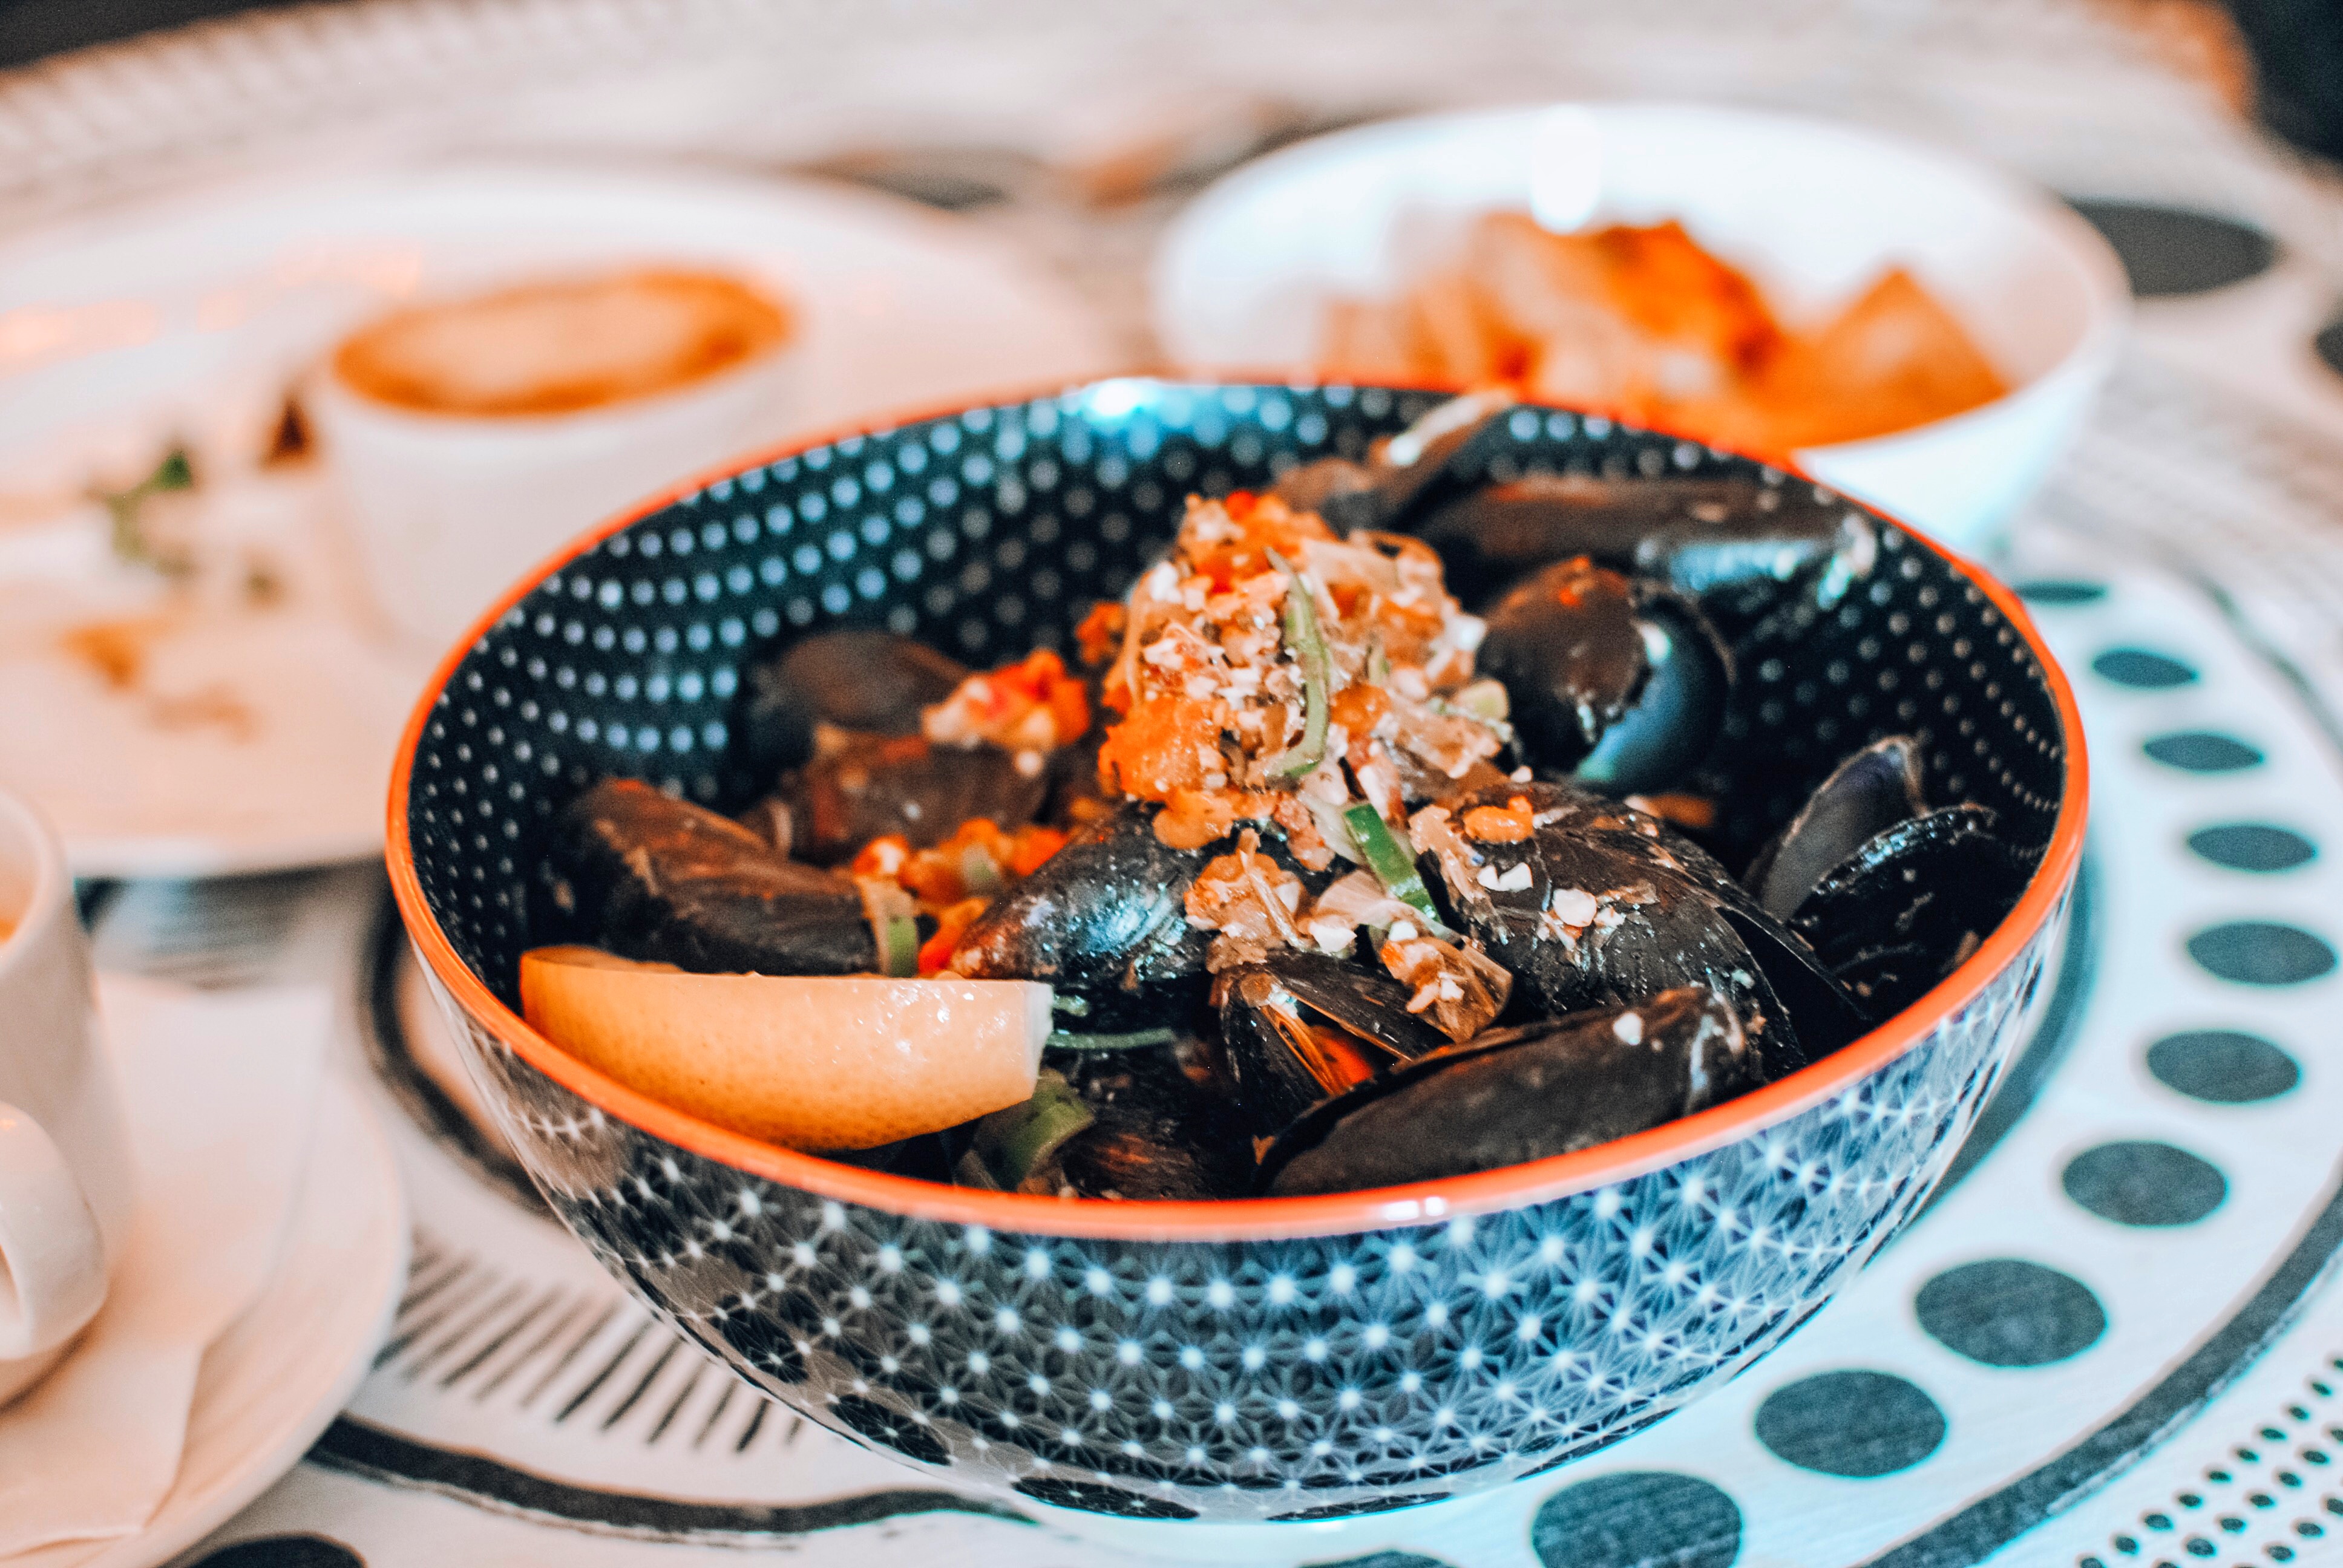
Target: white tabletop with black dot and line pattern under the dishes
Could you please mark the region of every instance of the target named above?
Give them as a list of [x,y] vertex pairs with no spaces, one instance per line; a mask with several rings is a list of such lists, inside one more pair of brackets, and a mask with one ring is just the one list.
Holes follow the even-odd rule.
[[[2263,1029],[2301,1059],[2291,1111],[2172,1123],[2174,1141],[2193,1139],[2254,1195],[2226,1212],[2259,1214],[2247,1230],[2198,1238],[2209,1247],[2200,1273],[2219,1289],[2207,1287],[2198,1317],[2174,1320],[2172,1343],[2134,1334],[2134,1320],[2153,1315],[2134,1301],[2156,1294],[2174,1259],[2113,1230],[2078,1230],[2083,1261],[2069,1263],[2088,1275],[2090,1249],[2116,1242],[2134,1259],[2109,1252],[2113,1273],[2092,1277],[2116,1327],[2104,1350],[2074,1357],[2071,1383],[1940,1369],[1921,1334],[1928,1313],[1914,1317],[1910,1303],[1963,1256],[2027,1252],[1994,1209],[1996,1195],[2020,1191],[2027,1160],[2064,1160],[2095,1116],[2151,1116],[2139,1109],[2149,1099],[2111,1109],[2116,1090],[2097,1080],[2149,1083],[2134,1057],[2156,1029],[2118,1017],[2123,994],[2167,1013],[2188,1005],[2158,989],[2186,977],[2170,977],[2151,952],[2160,928],[2142,923],[2174,874],[2151,841],[2177,832],[2181,818],[2160,813],[2181,797],[2170,769],[2139,762],[2139,738],[2165,720],[2252,729],[2263,715],[2268,729],[2303,736],[2301,755],[2280,757],[2273,743],[2282,778],[2235,797],[2235,811],[2298,823],[2327,792],[2343,799],[2343,380],[2310,352],[2343,277],[2343,195],[2324,171],[2263,145],[2216,91],[2174,75],[2170,49],[2090,5],[1802,0],[1769,7],[1762,23],[1722,0],[1635,19],[1619,9],[1481,5],[1427,23],[1410,7],[1361,5],[1336,26],[1310,9],[1204,0],[1104,23],[1059,5],[1019,2],[977,21],[907,0],[890,7],[888,28],[815,5],[722,0],[382,0],[260,14],[0,75],[0,227],[276,166],[291,162],[288,145],[307,162],[530,150],[815,169],[954,206],[1026,246],[1146,363],[1148,248],[1232,155],[1371,113],[1603,89],[1828,108],[1973,148],[2064,192],[2226,211],[2266,230],[2277,239],[2268,272],[2142,307],[2090,431],[1996,563],[2095,591],[2036,602],[2069,663],[2153,647],[2200,673],[2181,696],[2083,682],[2095,752],[2109,762],[2085,949],[2097,968],[2076,980],[2081,1022],[2027,1052],[2031,1066],[1987,1116],[1999,1130],[1975,1174],[1774,1357],[1762,1385],[1746,1378],[1584,1467],[1593,1479],[1525,1498],[1485,1540],[1427,1542],[1413,1561],[1607,1568],[1649,1556],[1720,1568],[1727,1559],[1664,1559],[1664,1533],[1642,1540],[1642,1556],[1605,1554],[1584,1523],[1582,1505],[1617,1493],[1628,1516],[1659,1528],[1708,1495],[1682,1486],[1731,1498],[1743,1563],[2320,1561],[2320,1521],[2343,1514],[2343,1498],[2317,1486],[2310,1460],[2261,1453],[2280,1437],[2294,1448],[2322,1441],[2320,1423],[2336,1413],[2317,1406],[2329,1388],[2320,1378],[2329,1362],[2343,1366],[2343,1296],[2324,1280],[2336,1242],[2324,1186],[2336,1148],[2317,1130],[2324,1062],[2315,1038],[2287,1034],[2296,1024],[2273,1013]],[[124,113],[127,98],[138,113]],[[2331,895],[2317,881],[2294,886],[2268,898],[2294,898],[2289,919],[2315,928]],[[490,1563],[560,1552],[651,1566],[743,1545],[804,1561],[1099,1561],[975,1514],[869,1502],[902,1472],[722,1385],[628,1305],[494,1151],[450,1120],[429,1071],[429,1022],[403,996],[412,977],[384,923],[380,872],[134,884],[96,902],[101,963],[201,984],[335,984],[349,1059],[377,1078],[419,1219],[410,1301],[351,1413],[187,1561]],[[2291,1001],[2331,1008],[2320,987],[2334,982]],[[2263,1181],[2261,1155],[2221,1153],[2224,1139],[2291,1139],[2301,1170],[2263,1160]],[[1942,1453],[1849,1481],[1753,1437],[1769,1390],[1823,1385],[1837,1345],[1860,1334],[1881,1345],[1867,1364],[1928,1388],[1921,1402],[1940,1411],[1938,1432],[1952,1411]],[[1895,1359],[1907,1343],[1910,1357]],[[2036,1402],[2052,1409],[2045,1388],[2099,1413],[2078,1418],[2071,1441],[2015,1430],[1973,1439],[2013,1416],[2031,1420]],[[2125,1437],[2125,1423],[2146,1423],[2144,1434]],[[2256,1458],[2238,1460],[2249,1444]],[[1343,1556],[1340,1542],[1312,1561],[1324,1556]]]

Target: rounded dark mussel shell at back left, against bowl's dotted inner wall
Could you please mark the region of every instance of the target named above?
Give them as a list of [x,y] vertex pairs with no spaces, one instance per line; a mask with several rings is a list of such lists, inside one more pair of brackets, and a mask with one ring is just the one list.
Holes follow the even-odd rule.
[[827,630],[747,668],[736,745],[761,778],[776,778],[813,757],[818,724],[916,736],[921,710],[963,680],[968,670],[925,642],[890,630]]

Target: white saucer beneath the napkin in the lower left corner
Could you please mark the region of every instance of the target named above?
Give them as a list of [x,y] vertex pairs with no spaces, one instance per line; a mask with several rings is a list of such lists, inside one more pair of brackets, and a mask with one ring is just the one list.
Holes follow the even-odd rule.
[[363,1090],[328,1064],[284,1256],[204,1352],[178,1481],[138,1535],[28,1554],[37,1568],[152,1568],[300,1463],[349,1404],[408,1280],[408,1205]]

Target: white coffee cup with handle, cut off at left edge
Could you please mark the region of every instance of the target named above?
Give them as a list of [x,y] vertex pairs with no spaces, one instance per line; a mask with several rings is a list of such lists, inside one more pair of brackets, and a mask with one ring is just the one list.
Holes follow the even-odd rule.
[[56,837],[0,795],[0,1404],[105,1301],[131,1226],[131,1151],[98,1045],[89,947]]

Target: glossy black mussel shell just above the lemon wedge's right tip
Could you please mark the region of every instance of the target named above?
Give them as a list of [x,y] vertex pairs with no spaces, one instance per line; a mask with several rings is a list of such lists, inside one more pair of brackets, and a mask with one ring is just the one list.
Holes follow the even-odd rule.
[[1188,884],[1214,851],[1155,837],[1155,809],[1115,806],[996,898],[951,952],[972,980],[1047,980],[1068,1034],[1176,1029],[1204,987],[1209,930]]

